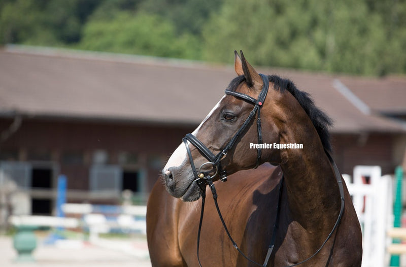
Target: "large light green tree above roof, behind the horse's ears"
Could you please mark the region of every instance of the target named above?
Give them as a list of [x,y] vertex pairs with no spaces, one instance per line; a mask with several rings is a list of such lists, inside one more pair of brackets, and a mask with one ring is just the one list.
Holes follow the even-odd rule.
[[391,69],[382,59],[402,53],[385,33],[366,1],[227,0],[205,26],[203,54],[228,61],[243,49],[254,64],[381,75]]

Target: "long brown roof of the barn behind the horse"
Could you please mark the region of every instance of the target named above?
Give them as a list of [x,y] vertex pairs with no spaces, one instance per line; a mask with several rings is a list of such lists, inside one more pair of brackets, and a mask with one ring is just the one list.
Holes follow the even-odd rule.
[[[356,87],[355,96],[380,110],[391,106],[391,97],[379,95],[381,98],[374,99],[366,88],[371,84],[379,91],[385,81],[291,70],[261,71],[289,78],[312,94],[316,105],[333,118],[333,132],[406,129],[375,113],[363,112],[337,89],[338,84],[351,91],[361,81],[366,85]],[[197,124],[233,77],[230,66],[13,46],[0,51],[0,114]],[[406,79],[399,78],[399,84],[405,83]],[[404,90],[399,91],[404,95]],[[399,99],[395,107],[404,110]]]

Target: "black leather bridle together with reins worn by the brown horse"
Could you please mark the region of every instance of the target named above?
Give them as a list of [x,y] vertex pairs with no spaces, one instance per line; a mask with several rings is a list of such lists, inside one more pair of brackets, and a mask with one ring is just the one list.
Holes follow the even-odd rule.
[[[194,182],[196,182],[196,184],[200,187],[200,189],[202,190],[202,194],[201,194],[201,199],[202,199],[202,203],[201,203],[201,212],[200,212],[200,220],[199,220],[199,228],[198,228],[198,233],[197,233],[197,260],[199,263],[199,266],[201,267],[201,263],[200,263],[200,259],[199,259],[199,243],[200,243],[200,232],[201,232],[201,225],[202,225],[202,221],[203,221],[203,216],[204,216],[204,210],[205,210],[205,199],[206,199],[206,185],[209,185],[212,194],[213,194],[213,199],[214,199],[214,203],[217,209],[217,213],[219,214],[221,223],[224,227],[224,230],[227,233],[227,236],[229,238],[229,240],[231,241],[231,243],[233,244],[233,247],[238,250],[238,252],[245,257],[248,261],[258,265],[258,266],[262,266],[265,267],[268,264],[269,258],[272,255],[273,249],[274,249],[274,245],[275,245],[275,241],[276,241],[276,233],[277,233],[277,229],[278,229],[278,223],[279,223],[279,214],[280,214],[280,203],[281,203],[281,194],[282,194],[282,188],[283,188],[283,182],[284,182],[284,176],[282,175],[280,184],[279,184],[279,196],[278,196],[278,204],[277,204],[277,213],[276,213],[276,218],[275,218],[275,223],[274,223],[274,229],[273,229],[273,235],[272,235],[272,240],[270,241],[270,245],[268,246],[268,251],[266,253],[265,256],[265,260],[263,264],[259,264],[255,261],[253,261],[252,259],[248,258],[238,247],[238,245],[235,243],[235,241],[232,239],[230,232],[228,231],[228,228],[224,222],[223,216],[221,215],[218,203],[217,203],[217,191],[216,188],[214,186],[213,183],[213,178],[219,174],[220,175],[220,180],[222,182],[226,182],[227,181],[227,173],[225,170],[222,169],[221,166],[221,159],[227,155],[228,150],[230,150],[234,145],[235,142],[239,139],[239,137],[242,135],[242,133],[244,132],[244,130],[247,128],[247,126],[249,125],[249,123],[251,122],[251,120],[254,118],[254,116],[256,114],[257,115],[257,132],[258,132],[258,144],[262,144],[262,131],[261,131],[261,117],[260,117],[260,110],[262,108],[263,102],[265,100],[266,94],[268,92],[268,87],[269,87],[269,81],[267,76],[263,75],[263,74],[259,74],[262,78],[263,81],[263,87],[261,92],[258,95],[258,99],[255,99],[247,94],[243,94],[243,93],[239,93],[239,92],[235,92],[235,91],[230,91],[230,90],[225,90],[225,94],[228,95],[233,95],[235,97],[241,98],[244,101],[253,104],[254,108],[252,109],[252,111],[250,112],[248,118],[244,121],[243,125],[240,127],[240,129],[235,133],[235,135],[231,138],[231,140],[227,143],[227,145],[224,146],[224,148],[217,154],[215,155],[212,151],[210,151],[210,149],[204,145],[200,140],[198,140],[195,136],[193,136],[191,133],[188,133],[183,139],[182,141],[184,142],[185,146],[186,146],[186,151],[189,157],[189,162],[190,162],[190,166],[193,172],[193,176],[194,176]],[[209,161],[202,164],[199,168],[199,170],[197,171],[193,162],[193,157],[192,157],[192,153],[190,151],[189,148],[189,144],[188,141],[199,151],[199,153],[204,156],[206,159],[208,159]],[[260,163],[260,159],[261,159],[261,149],[258,148],[257,149],[257,160],[256,160],[256,165],[253,169],[256,169]],[[343,188],[343,181],[342,181],[342,177],[341,174],[337,168],[337,166],[335,165],[334,160],[332,159],[331,155],[329,154],[329,152],[327,150],[325,150],[325,153],[331,163],[331,165],[333,166],[333,170],[334,170],[334,176],[337,180],[337,184],[339,185],[339,190],[340,190],[340,197],[341,197],[341,208],[340,208],[340,213],[339,216],[337,217],[337,220],[335,221],[335,224],[332,228],[332,230],[330,231],[329,235],[327,236],[327,238],[325,239],[325,241],[322,243],[322,245],[320,246],[320,248],[310,257],[308,257],[307,259],[304,259],[296,264],[293,265],[289,265],[287,267],[293,267],[299,264],[302,264],[308,260],[310,260],[311,258],[313,258],[314,256],[316,256],[321,249],[324,247],[324,245],[327,243],[327,241],[331,238],[331,236],[333,235],[333,232],[335,231],[335,229],[339,226],[341,218],[343,216],[343,212],[344,212],[344,188]],[[203,171],[203,167],[205,165],[212,165],[213,169],[209,170],[209,171]],[[214,171],[215,170],[215,171]],[[211,175],[211,173],[214,173],[213,175]]]

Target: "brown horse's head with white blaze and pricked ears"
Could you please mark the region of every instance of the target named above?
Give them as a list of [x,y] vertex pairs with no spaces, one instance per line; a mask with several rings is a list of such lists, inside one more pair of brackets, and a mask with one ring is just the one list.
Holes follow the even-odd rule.
[[[262,143],[258,139],[262,131],[266,131],[264,143],[278,143],[281,136],[278,125],[284,123],[283,116],[269,118],[269,114],[279,114],[280,104],[276,105],[276,102],[281,99],[281,96],[277,90],[268,92],[268,77],[258,74],[245,59],[242,52],[240,57],[235,51],[234,68],[238,77],[230,82],[226,94],[191,134],[201,144],[204,144],[203,146],[206,146],[213,156],[217,156],[218,163],[221,164],[222,170],[226,171],[227,174],[254,168],[264,162],[263,158],[267,158],[266,161],[278,163],[280,161],[278,153],[263,157],[270,150],[262,150],[260,152],[261,157],[256,145]],[[255,103],[264,90],[267,92],[265,105],[263,105],[264,103]],[[252,99],[247,99],[245,96]],[[262,95],[263,101],[265,96]],[[253,106],[258,106],[258,111],[255,111],[254,116],[251,114],[253,113]],[[260,128],[257,124],[257,119],[260,118],[257,114],[259,112],[262,114]],[[247,122],[250,114],[254,118]],[[247,125],[236,136],[244,124]],[[196,148],[196,144],[192,145],[190,141],[188,139],[186,143],[182,143],[174,151],[162,170],[167,191],[175,197],[182,198],[183,201],[195,201],[202,192],[202,188],[196,183],[192,169],[195,169],[196,172],[210,172],[212,168],[212,164],[205,164],[210,160],[202,155],[204,153],[201,149]],[[230,141],[233,142],[232,146],[229,146]],[[228,151],[223,153],[227,145],[229,146]],[[188,156],[187,150],[190,150],[190,156]],[[193,168],[192,165],[195,167]],[[218,171],[217,169],[213,168],[213,173]],[[219,177],[220,175],[217,174],[213,176],[213,179],[218,180]]]

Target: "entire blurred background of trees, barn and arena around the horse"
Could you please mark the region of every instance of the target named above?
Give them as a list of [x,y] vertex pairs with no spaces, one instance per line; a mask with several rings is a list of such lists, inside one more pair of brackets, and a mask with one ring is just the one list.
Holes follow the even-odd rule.
[[0,0],[0,265],[149,266],[149,192],[240,49],[333,119],[363,266],[406,266],[401,0]]

